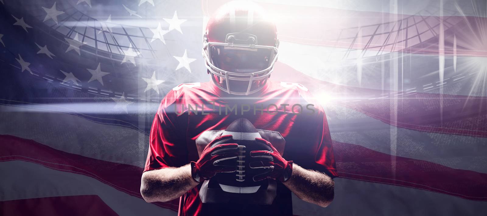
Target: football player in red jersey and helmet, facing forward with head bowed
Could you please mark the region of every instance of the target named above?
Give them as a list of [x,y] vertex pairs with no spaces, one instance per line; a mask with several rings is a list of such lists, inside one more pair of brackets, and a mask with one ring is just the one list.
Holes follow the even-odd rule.
[[[143,198],[180,198],[180,216],[293,215],[291,192],[328,206],[337,170],[326,116],[304,86],[269,80],[279,54],[272,19],[255,3],[232,1],[209,19],[203,41],[211,80],[181,84],[162,100],[150,132]],[[228,135],[220,131],[242,117],[265,146],[250,152],[252,168],[263,170],[252,179],[277,182],[275,198],[203,202],[204,182],[238,169],[241,149],[222,143]]]

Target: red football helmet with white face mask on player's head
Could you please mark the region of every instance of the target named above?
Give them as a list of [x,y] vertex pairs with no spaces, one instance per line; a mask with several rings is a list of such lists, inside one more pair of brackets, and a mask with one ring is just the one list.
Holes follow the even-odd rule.
[[203,56],[213,82],[230,94],[261,90],[278,57],[276,24],[259,5],[232,1],[208,20]]

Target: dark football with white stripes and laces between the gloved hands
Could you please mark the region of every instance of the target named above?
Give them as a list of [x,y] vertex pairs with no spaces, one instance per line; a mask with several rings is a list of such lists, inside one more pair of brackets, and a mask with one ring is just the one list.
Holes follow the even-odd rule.
[[202,201],[271,204],[276,195],[275,180],[254,181],[253,177],[262,173],[262,170],[249,166],[250,162],[259,160],[250,157],[251,151],[270,150],[267,145],[255,141],[255,138],[261,138],[259,131],[249,120],[239,118],[227,126],[223,135],[232,135],[232,138],[217,142],[215,145],[228,143],[239,145],[239,156],[235,164],[237,170],[218,173],[210,180],[206,180],[200,190]]

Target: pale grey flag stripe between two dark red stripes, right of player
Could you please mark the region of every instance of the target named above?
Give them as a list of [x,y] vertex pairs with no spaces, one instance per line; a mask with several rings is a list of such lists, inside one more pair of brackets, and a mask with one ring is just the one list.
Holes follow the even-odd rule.
[[487,155],[482,151],[487,148],[487,138],[391,127],[352,108],[336,104],[326,105],[325,112],[334,141],[453,169],[487,173]]

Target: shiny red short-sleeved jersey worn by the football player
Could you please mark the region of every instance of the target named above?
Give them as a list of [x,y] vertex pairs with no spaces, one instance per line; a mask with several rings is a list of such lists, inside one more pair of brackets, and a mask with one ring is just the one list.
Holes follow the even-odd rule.
[[[280,134],[269,142],[279,143],[276,148],[283,149],[280,153],[287,161],[337,176],[323,109],[302,85],[269,81],[261,91],[248,96],[229,95],[211,81],[181,84],[169,91],[152,123],[144,171],[197,161],[198,137],[224,130],[241,117],[259,130]],[[180,199],[179,215],[292,215],[291,192],[281,182],[271,205],[202,203],[200,188],[201,183]]]

